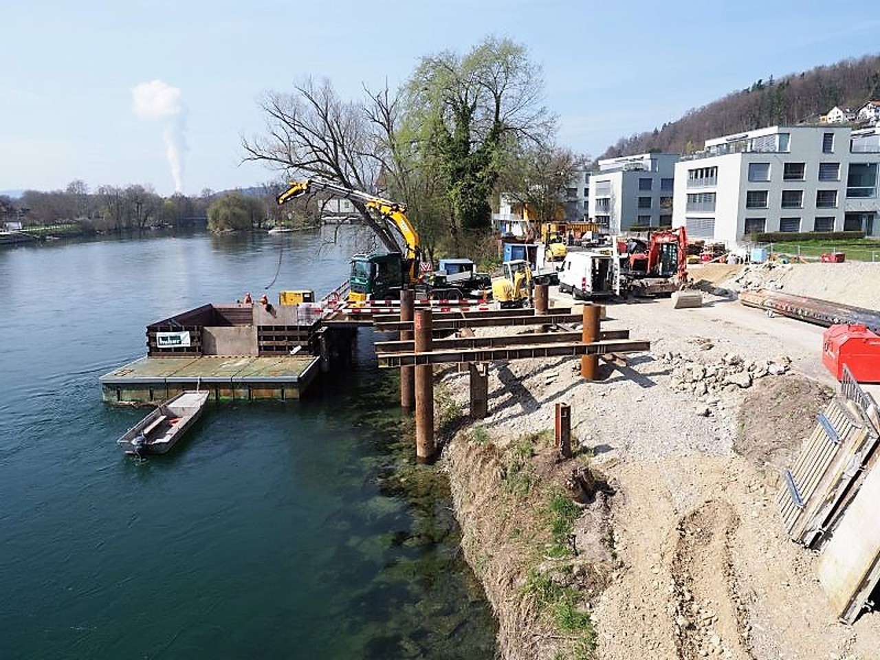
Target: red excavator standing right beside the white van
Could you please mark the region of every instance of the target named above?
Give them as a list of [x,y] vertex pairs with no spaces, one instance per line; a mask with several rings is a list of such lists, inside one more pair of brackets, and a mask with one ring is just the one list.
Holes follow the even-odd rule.
[[685,228],[654,231],[647,242],[627,240],[620,276],[634,296],[668,296],[681,289],[687,283]]

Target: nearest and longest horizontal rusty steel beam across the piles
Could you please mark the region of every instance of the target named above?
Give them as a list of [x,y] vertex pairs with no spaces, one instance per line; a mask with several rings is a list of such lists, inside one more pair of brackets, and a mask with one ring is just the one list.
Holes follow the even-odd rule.
[[643,353],[651,348],[650,341],[609,340],[583,343],[543,344],[507,348],[469,348],[464,350],[432,350],[429,353],[393,353],[378,356],[379,367],[394,368],[410,364],[441,364],[451,362],[497,362],[535,357],[604,356],[609,353]]

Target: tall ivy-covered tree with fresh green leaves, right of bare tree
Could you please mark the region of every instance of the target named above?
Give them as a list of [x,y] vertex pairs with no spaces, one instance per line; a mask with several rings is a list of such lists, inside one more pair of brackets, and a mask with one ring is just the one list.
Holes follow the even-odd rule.
[[422,163],[444,175],[453,231],[487,230],[504,151],[552,133],[542,91],[539,67],[511,40],[422,58],[407,84],[409,122],[421,127]]

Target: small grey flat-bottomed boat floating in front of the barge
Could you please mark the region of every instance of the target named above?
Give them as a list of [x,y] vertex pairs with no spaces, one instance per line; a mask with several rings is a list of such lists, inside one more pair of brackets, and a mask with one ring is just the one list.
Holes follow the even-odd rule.
[[164,454],[202,416],[209,392],[185,390],[163,401],[128,429],[116,444],[127,454]]

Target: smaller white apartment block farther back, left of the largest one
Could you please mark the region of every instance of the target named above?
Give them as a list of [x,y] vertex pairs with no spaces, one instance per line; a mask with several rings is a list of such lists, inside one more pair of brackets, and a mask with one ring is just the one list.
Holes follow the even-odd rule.
[[600,160],[598,172],[590,173],[590,220],[612,235],[633,227],[671,226],[678,158],[646,153]]

